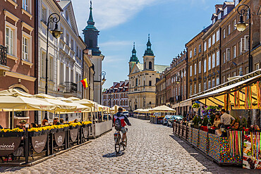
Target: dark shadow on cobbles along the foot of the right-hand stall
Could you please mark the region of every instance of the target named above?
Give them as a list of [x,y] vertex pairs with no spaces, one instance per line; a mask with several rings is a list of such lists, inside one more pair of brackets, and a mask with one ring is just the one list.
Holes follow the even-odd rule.
[[[178,144],[180,144],[181,147],[186,149],[186,151],[188,151],[190,156],[193,156],[193,158],[195,158],[198,162],[200,162],[203,166],[205,166],[205,168],[207,168],[205,170],[202,170],[202,172],[222,173],[221,171],[231,169],[231,170],[233,170],[233,172],[237,171],[237,173],[261,173],[261,170],[250,171],[248,169],[241,168],[241,166],[222,166],[222,167],[220,167],[217,163],[214,163],[213,161],[211,161],[211,159],[207,159],[207,157],[204,156],[203,154],[201,154],[200,151],[194,149],[188,143],[184,142],[183,139],[180,139],[179,137],[176,137],[175,135],[169,135],[169,136],[172,137],[176,142],[178,142]],[[221,169],[221,170],[219,170],[219,169]],[[229,173],[229,171],[227,171],[227,173]]]

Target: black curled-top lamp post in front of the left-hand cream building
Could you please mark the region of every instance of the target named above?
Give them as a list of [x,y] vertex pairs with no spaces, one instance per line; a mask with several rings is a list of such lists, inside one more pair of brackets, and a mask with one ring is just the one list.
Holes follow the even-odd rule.
[[[58,23],[60,21],[60,15],[57,13],[51,13],[48,17],[47,22],[47,57],[46,57],[46,63],[45,63],[45,94],[48,93],[48,48],[49,48],[49,30],[50,30],[50,23],[55,23],[54,30],[50,30],[51,35],[58,39],[63,32],[61,32],[58,28]],[[47,111],[45,111],[45,117],[44,119],[47,119]]]

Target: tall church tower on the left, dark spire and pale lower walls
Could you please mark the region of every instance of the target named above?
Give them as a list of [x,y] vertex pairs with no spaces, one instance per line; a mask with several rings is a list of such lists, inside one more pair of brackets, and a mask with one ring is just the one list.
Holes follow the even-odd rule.
[[91,61],[93,64],[93,70],[95,70],[94,101],[98,104],[102,104],[102,85],[104,84],[104,81],[102,80],[102,61],[104,60],[104,55],[102,55],[98,46],[99,30],[95,27],[95,21],[92,17],[92,1],[90,4],[89,19],[87,20],[87,26],[83,30],[83,35],[87,49],[92,50]]

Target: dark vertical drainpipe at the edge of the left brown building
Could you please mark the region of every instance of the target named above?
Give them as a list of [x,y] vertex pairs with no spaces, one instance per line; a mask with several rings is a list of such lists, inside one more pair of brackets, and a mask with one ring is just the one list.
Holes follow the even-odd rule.
[[[35,1],[35,94],[38,94],[38,0]],[[35,123],[38,124],[38,111],[35,111]]]

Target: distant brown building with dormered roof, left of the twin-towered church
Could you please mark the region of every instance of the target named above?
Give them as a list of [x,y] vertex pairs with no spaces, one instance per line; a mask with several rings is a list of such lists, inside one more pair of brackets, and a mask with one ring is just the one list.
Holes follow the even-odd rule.
[[102,92],[102,104],[110,108],[118,105],[128,110],[128,85],[128,80],[114,82],[112,87]]

